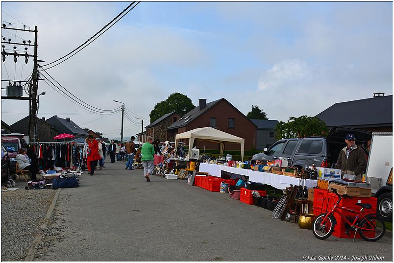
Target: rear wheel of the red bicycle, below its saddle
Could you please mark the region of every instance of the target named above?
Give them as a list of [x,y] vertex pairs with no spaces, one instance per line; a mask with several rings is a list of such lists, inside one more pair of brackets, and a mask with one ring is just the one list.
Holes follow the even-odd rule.
[[366,217],[368,221],[363,219],[359,226],[369,230],[359,229],[360,236],[367,241],[376,241],[381,239],[386,233],[386,225],[384,224],[383,219],[376,215],[367,215]]

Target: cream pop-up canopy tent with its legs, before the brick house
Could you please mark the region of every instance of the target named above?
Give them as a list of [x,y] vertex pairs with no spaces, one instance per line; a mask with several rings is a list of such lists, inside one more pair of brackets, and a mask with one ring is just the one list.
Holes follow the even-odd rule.
[[189,139],[189,153],[192,155],[192,147],[194,141],[205,141],[210,143],[220,143],[220,155],[223,156],[224,143],[240,143],[241,144],[241,157],[244,161],[244,146],[245,139],[231,135],[226,132],[214,129],[212,127],[197,128],[184,133],[175,135],[175,149],[178,147],[180,139]]

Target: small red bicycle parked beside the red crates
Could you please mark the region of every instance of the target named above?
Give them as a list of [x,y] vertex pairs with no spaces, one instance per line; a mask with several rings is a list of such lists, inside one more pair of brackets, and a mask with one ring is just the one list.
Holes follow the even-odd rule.
[[[345,223],[350,226],[346,230],[347,235],[349,231],[355,230],[353,242],[356,238],[357,230],[360,230],[360,236],[367,241],[376,241],[384,236],[386,233],[386,225],[384,224],[383,219],[376,214],[364,215],[364,209],[370,209],[372,207],[370,204],[357,203],[358,206],[361,206],[361,210],[353,211],[339,205],[342,198],[352,199],[352,197],[347,194],[340,195],[337,193],[336,189],[331,188],[331,190],[338,195],[339,198],[330,212],[318,215],[313,221],[312,231],[316,238],[326,239],[331,236],[332,232],[334,232],[335,224],[337,224],[334,212],[341,215],[341,217],[344,218]],[[341,210],[357,214],[357,216],[354,218],[353,222],[351,222],[342,214]]]

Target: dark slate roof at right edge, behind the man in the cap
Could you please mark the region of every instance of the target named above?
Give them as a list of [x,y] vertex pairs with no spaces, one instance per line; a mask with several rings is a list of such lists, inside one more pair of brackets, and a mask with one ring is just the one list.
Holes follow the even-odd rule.
[[393,125],[393,95],[335,103],[316,117],[327,127]]

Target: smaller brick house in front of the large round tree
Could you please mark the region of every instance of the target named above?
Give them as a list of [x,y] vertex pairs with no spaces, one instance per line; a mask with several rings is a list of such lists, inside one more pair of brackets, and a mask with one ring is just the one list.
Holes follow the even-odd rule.
[[167,127],[179,120],[180,117],[180,114],[176,111],[163,115],[145,127],[147,136],[152,136],[161,142],[167,141],[169,139],[167,136]]

